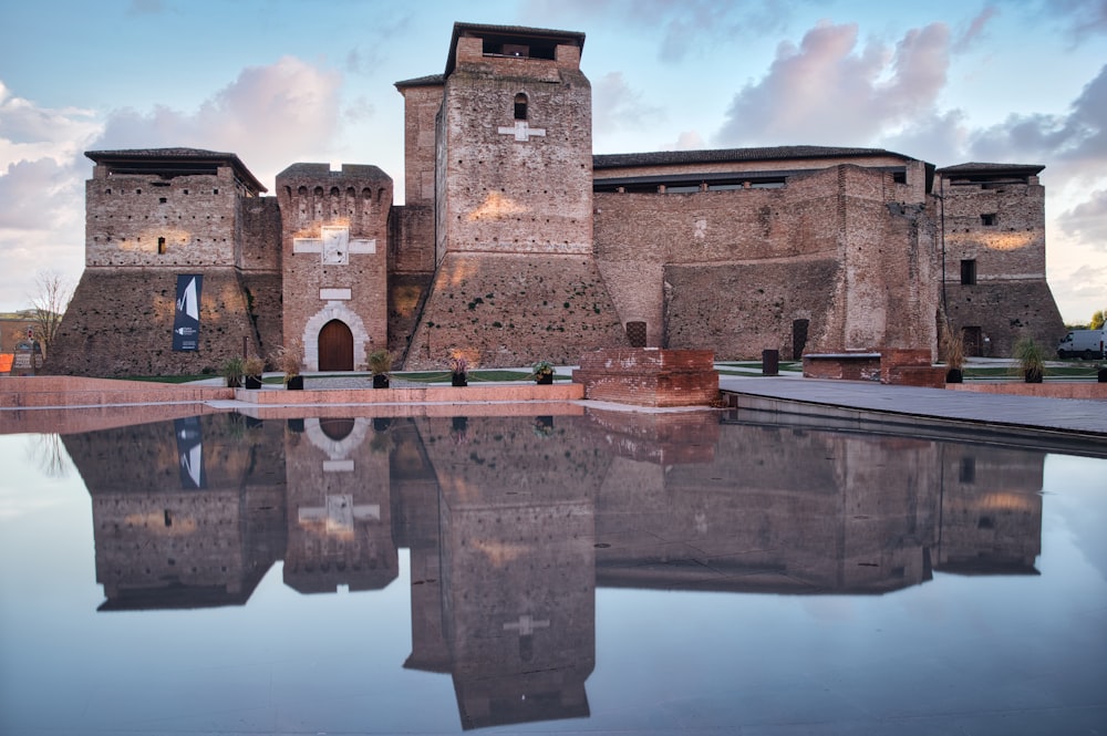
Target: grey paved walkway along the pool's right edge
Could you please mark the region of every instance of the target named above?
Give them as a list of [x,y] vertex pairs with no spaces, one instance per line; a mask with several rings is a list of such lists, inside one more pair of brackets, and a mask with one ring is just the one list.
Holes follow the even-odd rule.
[[[783,403],[829,406],[879,413],[889,417],[928,417],[964,424],[1055,431],[1101,437],[1107,446],[1107,402],[1070,398],[1041,398],[889,386],[860,381],[819,381],[796,377],[720,376],[720,388],[741,396],[745,407],[787,411]],[[743,407],[743,403],[738,406]],[[756,406],[755,406],[756,404]]]

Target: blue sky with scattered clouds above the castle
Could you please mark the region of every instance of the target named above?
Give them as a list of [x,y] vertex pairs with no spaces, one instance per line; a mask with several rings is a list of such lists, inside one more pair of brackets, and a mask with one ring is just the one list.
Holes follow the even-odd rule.
[[86,151],[375,164],[455,21],[586,34],[597,154],[886,148],[1046,168],[1062,317],[1107,309],[1107,0],[37,0],[0,3],[0,311],[84,263]]

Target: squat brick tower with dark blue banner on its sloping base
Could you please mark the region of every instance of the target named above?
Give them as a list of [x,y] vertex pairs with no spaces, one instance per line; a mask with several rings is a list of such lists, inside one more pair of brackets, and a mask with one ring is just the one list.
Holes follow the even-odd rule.
[[[279,311],[272,317],[261,296],[279,273],[279,214],[238,156],[197,148],[85,155],[95,163],[85,183],[85,270],[46,369],[214,372],[244,346],[265,350],[279,332]],[[195,284],[189,344],[174,339],[183,279]],[[251,293],[259,294],[252,303]]]

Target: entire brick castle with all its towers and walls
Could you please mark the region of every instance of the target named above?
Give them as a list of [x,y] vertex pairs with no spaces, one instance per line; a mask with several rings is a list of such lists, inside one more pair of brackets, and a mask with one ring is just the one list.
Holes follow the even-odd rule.
[[[309,371],[603,348],[717,359],[970,354],[1064,332],[1037,165],[935,168],[875,148],[594,155],[582,33],[456,23],[442,74],[396,83],[404,205],[375,166],[293,164],[276,196],[234,153],[96,151],[85,271],[48,370],[184,374],[299,342]],[[197,350],[173,350],[179,274]]]

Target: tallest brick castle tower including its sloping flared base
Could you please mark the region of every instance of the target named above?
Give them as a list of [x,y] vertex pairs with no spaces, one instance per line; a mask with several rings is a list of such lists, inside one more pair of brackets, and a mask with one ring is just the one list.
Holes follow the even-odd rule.
[[[583,44],[569,31],[454,25],[435,132],[435,277],[406,367],[457,353],[484,366],[575,362],[623,344],[592,258]],[[397,84],[408,105],[431,86],[416,82]],[[407,157],[425,169],[425,142],[408,142]]]

